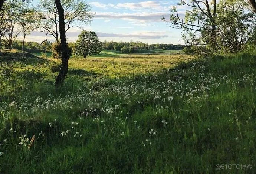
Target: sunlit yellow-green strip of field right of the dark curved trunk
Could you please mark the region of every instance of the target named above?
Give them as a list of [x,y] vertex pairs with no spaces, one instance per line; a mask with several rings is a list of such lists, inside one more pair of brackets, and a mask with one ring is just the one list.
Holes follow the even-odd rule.
[[170,68],[191,59],[182,55],[122,55],[116,57],[71,58],[70,70],[86,70],[104,76],[126,76]]

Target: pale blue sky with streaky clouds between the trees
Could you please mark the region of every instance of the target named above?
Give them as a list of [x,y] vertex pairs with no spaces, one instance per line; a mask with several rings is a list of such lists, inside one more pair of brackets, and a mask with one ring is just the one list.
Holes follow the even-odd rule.
[[[33,0],[37,5],[39,0]],[[109,41],[130,40],[144,43],[183,44],[181,30],[168,26],[170,23],[161,20],[169,18],[170,8],[177,5],[179,0],[86,0],[95,12],[89,25],[82,25],[84,30],[95,31],[99,39]],[[179,14],[186,9],[178,8]],[[67,32],[68,41],[75,41],[81,29],[72,28]],[[45,34],[35,31],[27,36],[27,41],[43,41]],[[49,36],[53,41],[53,37]]]

